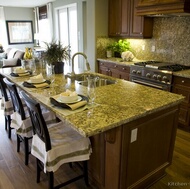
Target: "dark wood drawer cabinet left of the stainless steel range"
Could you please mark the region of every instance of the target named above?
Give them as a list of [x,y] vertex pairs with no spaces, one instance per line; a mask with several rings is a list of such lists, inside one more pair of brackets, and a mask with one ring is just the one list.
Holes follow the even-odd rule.
[[127,65],[98,61],[98,72],[111,77],[129,80],[130,67]]

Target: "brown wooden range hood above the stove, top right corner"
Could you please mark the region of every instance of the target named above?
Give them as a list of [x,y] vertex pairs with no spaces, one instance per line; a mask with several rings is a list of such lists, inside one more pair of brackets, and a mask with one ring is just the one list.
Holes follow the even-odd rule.
[[177,3],[155,3],[153,5],[138,5],[136,8],[138,16],[190,16],[190,0],[181,0]]

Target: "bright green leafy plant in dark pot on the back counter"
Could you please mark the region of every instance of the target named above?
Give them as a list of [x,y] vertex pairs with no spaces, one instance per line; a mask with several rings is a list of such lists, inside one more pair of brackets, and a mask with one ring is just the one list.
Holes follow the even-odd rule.
[[125,51],[130,51],[131,45],[127,40],[120,39],[118,42],[114,42],[112,45],[112,49],[115,57],[121,57],[121,53]]

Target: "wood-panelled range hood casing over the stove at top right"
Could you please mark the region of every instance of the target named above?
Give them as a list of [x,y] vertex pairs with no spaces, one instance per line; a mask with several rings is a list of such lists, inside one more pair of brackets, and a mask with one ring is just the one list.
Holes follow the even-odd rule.
[[137,15],[190,13],[190,0],[138,0]]

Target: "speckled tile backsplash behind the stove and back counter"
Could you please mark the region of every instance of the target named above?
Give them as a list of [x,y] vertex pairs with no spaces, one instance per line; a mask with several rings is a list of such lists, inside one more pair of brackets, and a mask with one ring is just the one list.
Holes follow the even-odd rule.
[[[98,37],[97,58],[105,58],[105,47],[115,40]],[[137,59],[190,65],[190,17],[154,18],[152,39],[127,40],[130,41]]]

